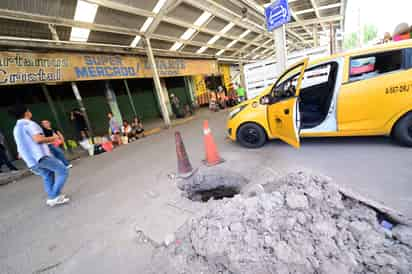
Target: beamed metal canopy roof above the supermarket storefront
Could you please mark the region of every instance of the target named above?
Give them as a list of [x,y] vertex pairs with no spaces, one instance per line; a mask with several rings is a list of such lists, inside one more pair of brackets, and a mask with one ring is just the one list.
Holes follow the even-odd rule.
[[[78,1],[81,0],[1,0],[0,35],[8,36],[9,40],[13,40],[12,37],[51,40],[52,35],[47,26],[50,23],[55,26],[60,40],[67,41],[70,39],[71,27],[82,24],[74,21]],[[270,0],[166,0],[165,5],[156,12],[153,9],[158,0],[86,1],[98,5],[95,19],[89,24],[96,24],[96,30],[92,30],[88,37],[90,43],[130,46],[135,38],[132,34],[138,33],[146,23],[148,28],[142,30],[145,32],[143,34],[151,38],[153,47],[157,49],[170,50],[174,42],[179,40],[185,44],[178,49],[180,52],[196,53],[202,45],[207,48],[203,54],[210,56],[214,56],[221,48],[225,48],[222,56],[245,56],[252,50],[254,55],[260,52],[273,54],[274,38],[273,34],[265,30],[263,13],[263,4],[271,2]],[[293,17],[287,26],[287,40],[289,44],[293,44],[293,50],[313,45],[314,27],[325,30],[329,22],[333,23],[335,29],[342,27],[341,14],[346,2],[347,0],[290,2]],[[211,13],[211,17],[200,26],[193,25],[204,11]],[[153,21],[148,17],[153,17]],[[222,29],[231,22],[234,26],[222,33]],[[182,34],[188,28],[193,28],[194,31],[191,36],[184,38],[186,41],[182,40]],[[250,30],[250,33],[241,38],[246,30]],[[207,44],[216,35],[220,38]],[[255,41],[258,35],[263,36]],[[230,47],[226,48],[228,45]],[[144,43],[140,42],[138,47],[144,47]]]

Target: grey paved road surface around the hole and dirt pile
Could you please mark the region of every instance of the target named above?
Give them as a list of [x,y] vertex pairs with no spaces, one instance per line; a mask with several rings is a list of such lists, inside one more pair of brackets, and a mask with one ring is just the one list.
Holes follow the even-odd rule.
[[306,139],[299,150],[271,141],[248,150],[225,139],[225,112],[202,111],[173,130],[75,161],[69,205],[48,208],[36,176],[0,187],[0,273],[143,273],[153,246],[136,230],[160,242],[191,215],[167,175],[176,169],[175,130],[192,164],[201,163],[203,119],[233,169],[310,169],[412,217],[411,149],[368,137]]

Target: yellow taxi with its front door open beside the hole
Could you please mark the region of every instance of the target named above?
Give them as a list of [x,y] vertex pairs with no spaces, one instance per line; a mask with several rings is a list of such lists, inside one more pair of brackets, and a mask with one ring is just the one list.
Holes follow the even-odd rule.
[[279,138],[392,136],[412,147],[412,40],[288,68],[258,97],[232,109],[227,134],[249,148]]

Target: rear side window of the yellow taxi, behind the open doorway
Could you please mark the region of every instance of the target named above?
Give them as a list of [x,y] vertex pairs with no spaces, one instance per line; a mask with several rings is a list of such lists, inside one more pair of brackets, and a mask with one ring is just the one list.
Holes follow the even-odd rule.
[[358,56],[350,60],[350,81],[359,81],[402,68],[402,50]]

